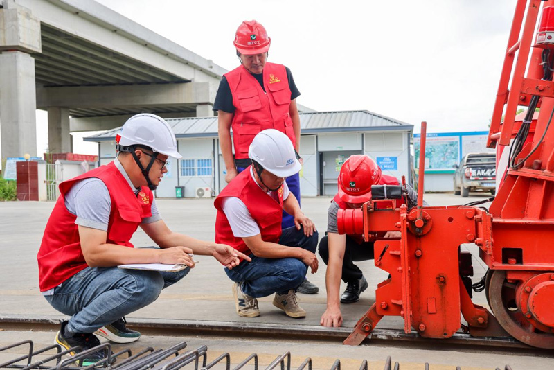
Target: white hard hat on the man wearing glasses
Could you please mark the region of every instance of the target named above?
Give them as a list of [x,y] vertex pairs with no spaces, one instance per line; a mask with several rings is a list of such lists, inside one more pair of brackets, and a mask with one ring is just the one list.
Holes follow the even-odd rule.
[[118,136],[118,144],[122,147],[138,144],[168,157],[183,157],[177,152],[177,139],[169,123],[155,114],[141,113],[132,116],[125,122]]

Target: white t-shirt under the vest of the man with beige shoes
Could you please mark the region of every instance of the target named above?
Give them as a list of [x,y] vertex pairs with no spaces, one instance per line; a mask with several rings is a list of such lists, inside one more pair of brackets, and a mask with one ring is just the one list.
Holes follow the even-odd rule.
[[[250,175],[254,179],[254,182],[256,182],[252,168],[250,168]],[[256,184],[258,183],[256,182]],[[258,184],[258,186],[260,185]],[[260,188],[262,187],[260,186]],[[287,181],[285,180],[285,182],[283,182],[283,201],[289,197],[289,194],[289,186],[287,186]],[[268,191],[267,195],[271,197],[271,191]],[[224,197],[222,200],[222,209],[229,221],[229,225],[231,225],[231,230],[233,230],[233,235],[235,237],[248,238],[249,236],[260,234],[258,224],[252,218],[246,204],[238,197]]]

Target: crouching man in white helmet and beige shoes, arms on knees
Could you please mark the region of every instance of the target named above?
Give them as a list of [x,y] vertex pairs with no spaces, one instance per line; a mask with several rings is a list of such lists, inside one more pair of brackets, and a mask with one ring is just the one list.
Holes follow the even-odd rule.
[[[285,179],[298,173],[292,142],[278,130],[254,137],[251,166],[238,174],[215,200],[215,242],[231,245],[251,257],[250,263],[225,272],[234,281],[233,297],[238,315],[260,315],[258,300],[275,293],[274,306],[289,317],[305,317],[298,306],[296,289],[307,267],[317,271],[314,254],[317,231],[298,205]],[[283,209],[294,215],[294,227],[281,229]]]

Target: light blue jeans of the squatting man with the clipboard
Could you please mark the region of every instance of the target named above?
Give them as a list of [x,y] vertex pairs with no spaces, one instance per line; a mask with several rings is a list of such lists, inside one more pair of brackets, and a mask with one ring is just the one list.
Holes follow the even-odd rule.
[[148,306],[161,290],[177,283],[190,269],[179,272],[124,270],[118,267],[87,267],[46,295],[53,308],[69,315],[73,333],[96,329]]

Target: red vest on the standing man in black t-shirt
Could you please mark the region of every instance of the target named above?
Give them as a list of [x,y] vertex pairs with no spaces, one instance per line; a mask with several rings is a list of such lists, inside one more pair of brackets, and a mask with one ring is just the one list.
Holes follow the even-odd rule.
[[291,91],[285,66],[265,64],[265,92],[260,82],[242,65],[225,73],[225,78],[229,82],[235,106],[231,121],[235,159],[248,158],[248,148],[254,136],[268,128],[287,134],[295,146],[296,136],[289,115]]

